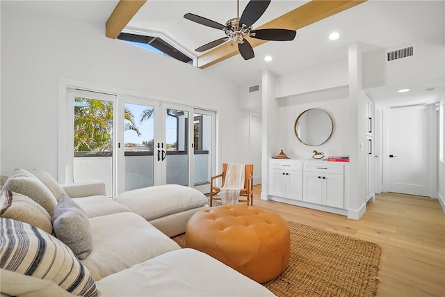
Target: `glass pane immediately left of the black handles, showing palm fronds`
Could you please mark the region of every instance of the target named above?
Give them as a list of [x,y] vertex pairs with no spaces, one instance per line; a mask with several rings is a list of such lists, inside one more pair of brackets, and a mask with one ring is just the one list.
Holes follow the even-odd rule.
[[125,191],[154,185],[154,106],[124,104]]

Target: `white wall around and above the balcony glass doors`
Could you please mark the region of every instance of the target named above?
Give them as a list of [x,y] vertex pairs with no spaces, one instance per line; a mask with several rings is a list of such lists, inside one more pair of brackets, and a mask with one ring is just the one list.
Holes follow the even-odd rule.
[[219,110],[219,163],[248,158],[249,116],[234,83],[106,38],[99,22],[1,6],[1,172],[39,167],[57,176],[59,79]]

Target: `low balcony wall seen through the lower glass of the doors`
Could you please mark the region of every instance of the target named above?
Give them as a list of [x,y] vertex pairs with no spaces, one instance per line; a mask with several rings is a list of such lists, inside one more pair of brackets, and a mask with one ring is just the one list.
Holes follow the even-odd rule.
[[[125,152],[125,191],[154,185],[153,151]],[[194,151],[194,184],[210,182],[209,151]],[[186,152],[167,151],[167,184],[188,185],[188,157]],[[74,182],[101,180],[106,184],[106,195],[113,195],[113,159],[111,152],[75,152]]]

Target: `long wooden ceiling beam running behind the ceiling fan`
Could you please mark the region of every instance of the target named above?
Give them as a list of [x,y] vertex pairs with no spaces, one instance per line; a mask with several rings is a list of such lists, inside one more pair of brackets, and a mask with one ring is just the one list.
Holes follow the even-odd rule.
[[[312,0],[255,29],[277,28],[298,30],[366,1],[367,0]],[[252,47],[257,47],[268,41],[248,38],[248,42],[250,42]],[[231,58],[236,54],[239,54],[238,46],[236,44],[232,45],[232,42],[226,42],[198,56],[197,67],[204,69],[227,58]]]

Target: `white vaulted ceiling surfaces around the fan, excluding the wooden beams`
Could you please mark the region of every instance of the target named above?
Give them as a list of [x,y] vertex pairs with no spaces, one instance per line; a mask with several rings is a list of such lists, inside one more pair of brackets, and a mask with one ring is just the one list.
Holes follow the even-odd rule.
[[[316,1],[332,2],[332,0]],[[120,3],[118,0],[14,2],[17,6],[26,6],[26,9],[63,17],[76,17],[88,22],[100,22],[104,26]],[[200,53],[195,52],[194,49],[224,35],[220,30],[184,19],[186,13],[207,17],[221,24],[236,17],[236,0],[130,2],[134,2],[135,6],[140,3],[143,5],[136,8],[137,12],[133,17],[118,15],[123,26],[162,33],[195,56],[199,56]],[[136,4],[137,2],[140,3]],[[291,10],[305,6],[308,2],[272,0],[266,13],[254,23],[254,26],[266,24]],[[350,1],[336,2],[348,3]],[[239,1],[240,12],[247,3],[247,0]],[[299,19],[296,19],[296,22],[299,22]],[[115,32],[119,31],[118,28]],[[338,40],[331,41],[327,38],[332,31],[339,32]],[[445,1],[369,0],[303,26],[297,30],[296,38],[291,42],[266,42],[255,47],[255,57],[248,61],[244,61],[240,55],[234,55],[202,71],[217,73],[240,86],[249,86],[261,82],[261,72],[266,69],[280,76],[305,72],[312,67],[332,64],[336,61],[346,61],[348,45],[354,42],[359,42],[364,53],[419,44],[434,45],[445,49]],[[428,55],[428,53],[423,53],[425,54]],[[273,61],[264,61],[266,55],[272,56]],[[443,63],[443,61],[445,58],[438,62]],[[428,61],[426,66],[435,67],[436,70],[437,67],[442,67],[442,77],[425,77],[424,72],[419,72],[421,75],[419,79],[410,81],[410,86],[404,86],[412,88],[412,92],[403,95],[407,101],[419,96],[426,97],[425,88],[435,88],[443,95],[445,66],[438,65],[437,61]],[[415,69],[410,71],[413,74],[418,72]],[[394,96],[396,87],[384,86],[366,91],[373,96],[373,99],[385,99]]]

